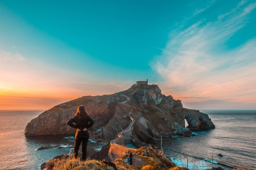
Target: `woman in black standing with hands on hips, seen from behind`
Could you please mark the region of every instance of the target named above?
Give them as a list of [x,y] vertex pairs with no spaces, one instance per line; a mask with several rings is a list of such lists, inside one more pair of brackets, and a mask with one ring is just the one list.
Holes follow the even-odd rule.
[[[75,123],[75,124],[74,124]],[[84,106],[79,106],[77,112],[73,118],[67,122],[72,128],[76,129],[75,145],[74,145],[74,157],[77,158],[79,146],[82,142],[82,160],[86,160],[87,143],[90,138],[88,129],[94,124],[94,121],[89,116]]]

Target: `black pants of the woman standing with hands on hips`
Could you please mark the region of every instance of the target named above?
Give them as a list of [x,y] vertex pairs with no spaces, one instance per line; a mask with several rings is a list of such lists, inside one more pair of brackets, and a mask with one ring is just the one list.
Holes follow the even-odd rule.
[[79,138],[75,139],[75,145],[74,145],[74,157],[77,158],[78,156],[78,150],[82,142],[82,160],[86,160],[86,154],[87,154],[87,143],[89,141],[89,138]]

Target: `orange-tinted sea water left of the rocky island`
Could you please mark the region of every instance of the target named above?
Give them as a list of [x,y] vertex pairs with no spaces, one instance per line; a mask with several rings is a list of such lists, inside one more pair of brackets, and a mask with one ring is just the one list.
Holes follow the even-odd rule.
[[[73,154],[73,135],[51,135],[26,138],[26,125],[42,111],[0,111],[0,169],[40,169],[58,155]],[[37,150],[42,146],[60,148]],[[105,143],[90,140],[88,146],[100,150]]]

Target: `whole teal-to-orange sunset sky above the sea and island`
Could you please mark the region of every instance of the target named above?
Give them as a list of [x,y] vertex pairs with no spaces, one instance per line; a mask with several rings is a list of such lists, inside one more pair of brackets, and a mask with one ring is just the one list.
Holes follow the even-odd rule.
[[191,109],[256,109],[256,1],[0,0],[0,110],[148,79]]

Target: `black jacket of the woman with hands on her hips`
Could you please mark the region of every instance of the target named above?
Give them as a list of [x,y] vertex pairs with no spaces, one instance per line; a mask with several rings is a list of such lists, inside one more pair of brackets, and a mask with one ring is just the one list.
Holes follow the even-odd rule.
[[[75,124],[74,124],[75,123]],[[70,118],[70,120],[67,122],[67,125],[69,125],[72,128],[76,129],[76,135],[75,138],[89,138],[90,134],[89,131],[83,131],[84,128],[89,129],[94,124],[93,119],[90,116],[74,116],[73,118]],[[81,131],[78,131],[81,130]]]

